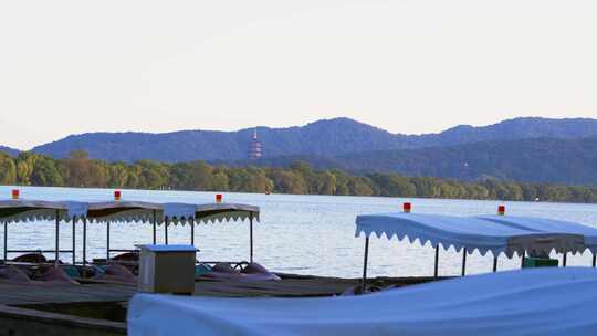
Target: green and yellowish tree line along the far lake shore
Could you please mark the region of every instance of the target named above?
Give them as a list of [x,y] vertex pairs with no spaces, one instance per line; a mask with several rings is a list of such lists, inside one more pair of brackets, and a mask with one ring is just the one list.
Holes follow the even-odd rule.
[[76,150],[65,159],[32,153],[0,154],[0,185],[385,196],[597,203],[597,188],[483,179],[457,181],[397,174],[350,175],[316,170],[296,161],[285,168],[211,166],[205,161],[134,164],[90,159]]

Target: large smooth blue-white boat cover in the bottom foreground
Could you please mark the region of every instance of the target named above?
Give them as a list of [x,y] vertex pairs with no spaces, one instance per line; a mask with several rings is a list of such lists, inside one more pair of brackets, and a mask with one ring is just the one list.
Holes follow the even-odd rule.
[[597,271],[471,275],[360,296],[224,298],[137,294],[130,336],[597,334]]

